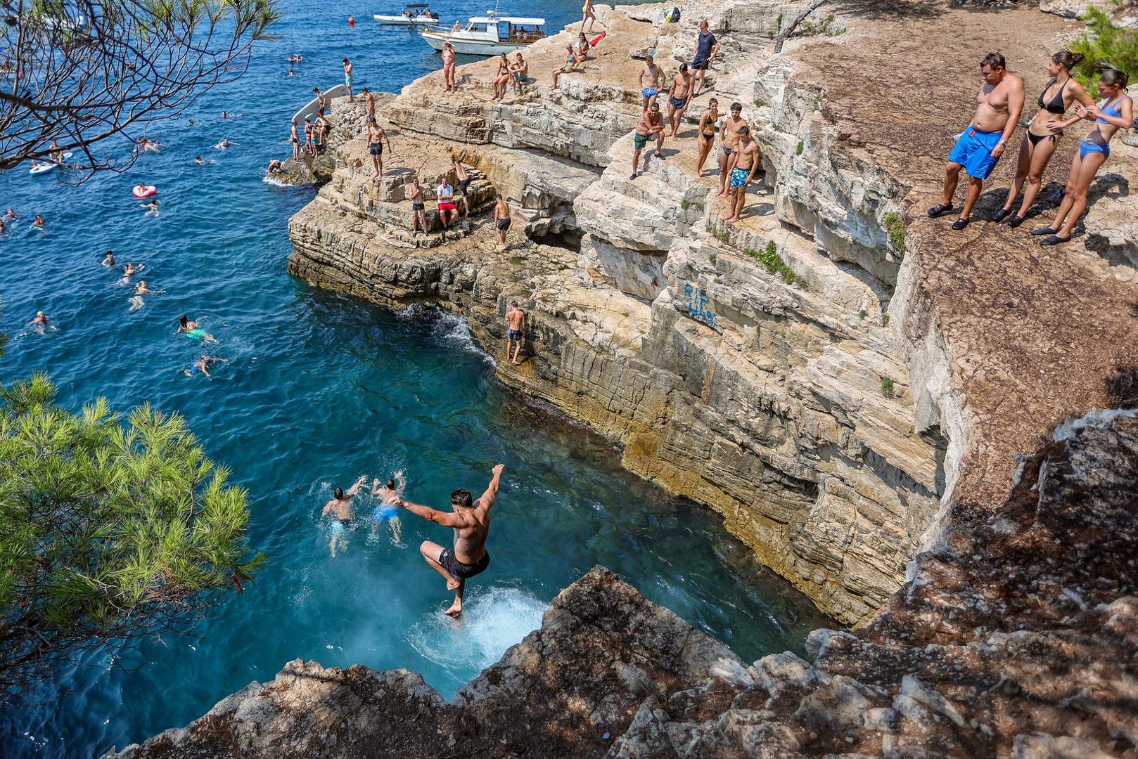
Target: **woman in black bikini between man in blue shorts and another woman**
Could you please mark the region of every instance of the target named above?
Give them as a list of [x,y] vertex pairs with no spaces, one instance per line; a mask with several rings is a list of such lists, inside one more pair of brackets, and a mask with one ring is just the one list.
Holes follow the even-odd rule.
[[[1055,154],[1055,148],[1058,147],[1063,130],[1079,122],[1078,116],[1065,122],[1058,118],[1062,118],[1077,100],[1083,106],[1095,105],[1082,85],[1071,76],[1071,69],[1082,58],[1082,55],[1067,50],[1052,56],[1052,61],[1047,66],[1047,73],[1052,79],[1039,93],[1039,110],[1028,125],[1028,132],[1020,143],[1020,163],[1016,164],[1015,180],[1008,190],[1004,207],[992,214],[992,221],[1001,222],[1012,216],[1012,204],[1023,189],[1023,203],[1020,205],[1020,211],[1008,221],[1008,226],[1019,226],[1023,223],[1031,204],[1039,195],[1040,178]],[[1024,180],[1028,180],[1026,187],[1023,187]]]

